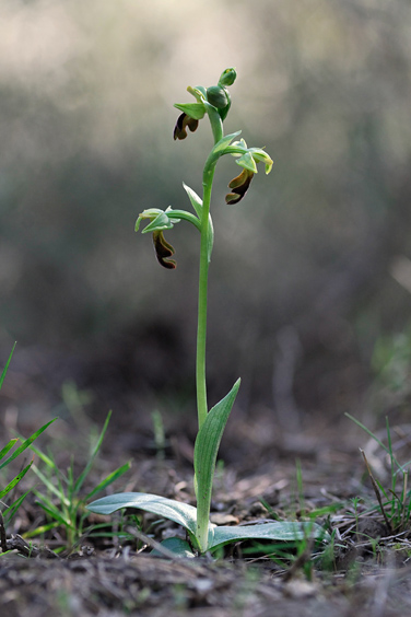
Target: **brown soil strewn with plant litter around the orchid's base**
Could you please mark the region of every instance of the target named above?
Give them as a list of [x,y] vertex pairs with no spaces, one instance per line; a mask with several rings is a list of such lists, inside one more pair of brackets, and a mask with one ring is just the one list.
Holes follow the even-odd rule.
[[[4,394],[11,396],[10,386]],[[71,409],[60,409],[62,419],[49,428],[47,436],[42,435],[39,446],[54,453],[60,469],[67,468],[72,456],[75,474],[87,463],[89,438],[96,434],[104,421],[97,407],[78,401]],[[141,411],[141,401],[137,407],[140,411],[133,419],[125,414],[113,416],[82,494],[132,459],[130,472],[109,490],[148,491],[193,503],[195,424],[181,421],[178,414],[171,414],[164,418],[164,443],[158,441],[158,435],[155,443],[151,412]],[[45,528],[40,535],[33,536],[49,519],[31,492],[5,527],[5,540],[1,543],[8,550],[0,555],[1,614],[8,617],[349,617],[354,613],[397,617],[409,614],[408,525],[401,533],[387,528],[387,522],[375,509],[377,500],[359,446],[365,449],[381,485],[389,486],[389,467],[383,451],[347,418],[300,418],[300,430],[287,434],[278,429],[270,409],[256,409],[253,415],[240,409],[234,412],[237,416],[231,419],[222,442],[224,463],[218,465],[212,521],[243,524],[272,516],[307,520],[315,514],[319,524],[333,532],[333,548],[308,544],[300,549],[282,546],[279,551],[279,547],[261,543],[237,543],[218,558],[155,557],[151,555],[155,542],[181,535],[181,529],[149,514],[140,517],[138,529],[132,519],[136,512],[131,511],[121,519],[91,514],[86,533],[70,548],[61,526]],[[24,415],[24,405],[14,415],[9,406],[3,429],[17,429],[26,434],[39,426],[31,422]],[[411,458],[409,434],[411,430],[407,426],[392,428],[398,447],[407,451],[400,452],[401,456],[408,456],[407,461]],[[40,493],[47,492],[31,472],[12,499],[34,485]],[[95,537],[93,526],[102,522],[106,523],[107,532],[122,524],[127,537]]]

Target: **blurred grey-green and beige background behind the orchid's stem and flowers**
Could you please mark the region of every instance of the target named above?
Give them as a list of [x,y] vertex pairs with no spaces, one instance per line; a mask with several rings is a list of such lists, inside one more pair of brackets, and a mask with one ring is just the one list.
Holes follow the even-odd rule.
[[225,131],[274,166],[237,206],[218,167],[211,403],[240,375],[284,429],[407,409],[410,58],[408,0],[2,0],[1,407],[192,411],[199,237],[167,271],[133,226],[201,191],[210,128],[174,142],[173,103],[233,66]]

